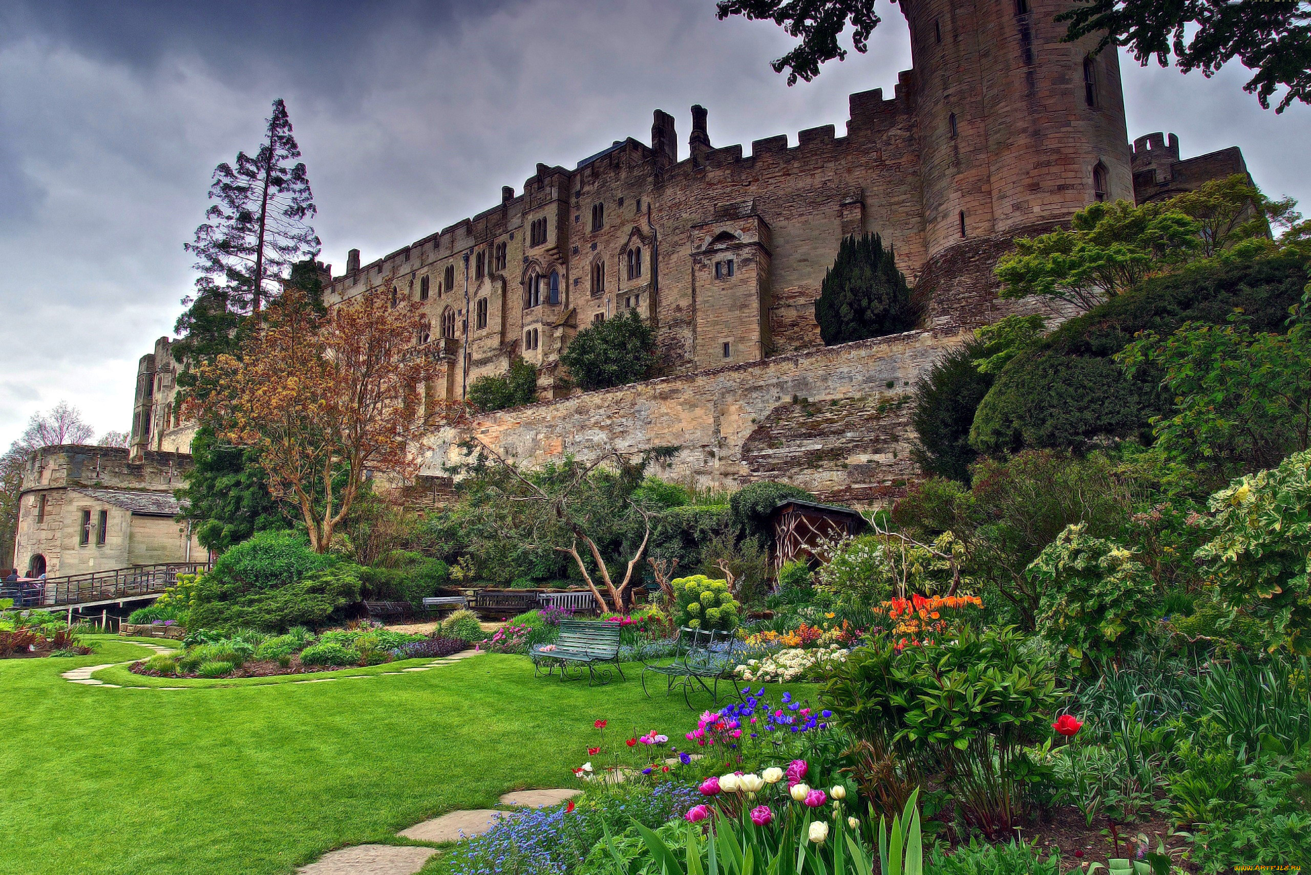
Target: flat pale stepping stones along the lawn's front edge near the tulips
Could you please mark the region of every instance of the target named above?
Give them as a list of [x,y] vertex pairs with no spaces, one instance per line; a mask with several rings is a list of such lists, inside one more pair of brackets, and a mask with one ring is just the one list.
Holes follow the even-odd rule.
[[[471,652],[471,655],[473,655]],[[566,802],[582,790],[517,790],[501,796],[501,804],[513,808],[547,808]],[[414,824],[396,833],[410,841],[440,845],[473,838],[492,829],[502,817],[514,817],[513,811],[481,808],[452,811]],[[399,845],[357,845],[324,854],[317,862],[304,866],[300,875],[413,875],[437,854],[435,847]]]

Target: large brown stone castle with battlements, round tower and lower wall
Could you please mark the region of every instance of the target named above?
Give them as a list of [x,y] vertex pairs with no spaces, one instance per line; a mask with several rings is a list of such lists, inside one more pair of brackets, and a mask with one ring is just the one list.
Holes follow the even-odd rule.
[[[1017,236],[1095,200],[1146,202],[1245,173],[1236,148],[1181,160],[1160,134],[1127,141],[1114,51],[1062,42],[1065,0],[902,0],[912,69],[894,94],[852,94],[834,126],[714,147],[692,107],[687,151],[657,110],[650,143],[617,140],[574,169],[538,165],[523,190],[388,255],[351,250],[329,305],[393,283],[418,301],[442,362],[425,388],[460,400],[522,355],[539,403],[486,414],[479,435],[538,464],[561,453],[678,445],[662,475],[699,485],[781,478],[869,504],[916,474],[909,400],[962,330],[999,301],[992,266]],[[839,241],[877,232],[927,303],[922,330],[823,347],[814,300]],[[1028,304],[1028,307],[1034,307]],[[663,376],[569,388],[558,364],[579,329],[636,310],[657,329]],[[161,338],[138,375],[131,448],[186,452],[178,363]],[[458,461],[434,431],[425,472]]]

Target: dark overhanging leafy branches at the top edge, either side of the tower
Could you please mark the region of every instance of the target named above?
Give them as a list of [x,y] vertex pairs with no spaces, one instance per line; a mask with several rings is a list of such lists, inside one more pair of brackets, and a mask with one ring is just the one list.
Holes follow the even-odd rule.
[[[839,37],[851,25],[851,45],[869,48],[869,34],[881,18],[874,0],[720,0],[722,20],[743,16],[772,21],[800,43],[771,65],[788,71],[788,85],[813,80],[825,62],[847,56]],[[1261,106],[1281,88],[1278,109],[1294,100],[1311,101],[1311,13],[1306,3],[1268,0],[1092,0],[1057,17],[1068,21],[1067,41],[1101,35],[1100,48],[1125,46],[1142,64],[1152,58],[1163,67],[1175,63],[1184,72],[1211,76],[1232,59],[1253,71],[1244,90]]]

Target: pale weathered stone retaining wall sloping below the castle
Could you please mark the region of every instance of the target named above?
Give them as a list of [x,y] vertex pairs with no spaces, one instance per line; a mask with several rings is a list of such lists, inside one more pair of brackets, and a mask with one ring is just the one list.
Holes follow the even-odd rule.
[[[911,390],[960,335],[910,331],[589,392],[477,418],[472,432],[535,468],[564,455],[678,447],[666,481],[735,487],[785,479],[827,500],[880,504],[918,475]],[[469,461],[467,432],[434,436],[423,473]]]

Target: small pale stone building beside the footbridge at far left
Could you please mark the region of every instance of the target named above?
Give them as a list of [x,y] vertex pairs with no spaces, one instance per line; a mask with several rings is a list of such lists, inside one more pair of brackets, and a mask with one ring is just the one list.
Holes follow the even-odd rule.
[[173,490],[191,464],[181,453],[117,447],[43,447],[28,458],[13,565],[49,578],[206,557]]

